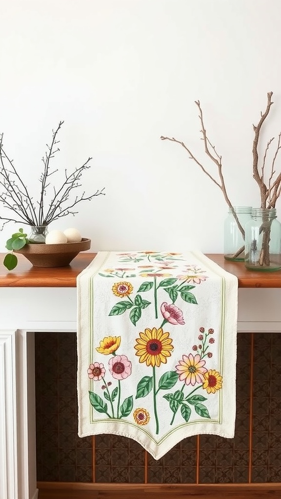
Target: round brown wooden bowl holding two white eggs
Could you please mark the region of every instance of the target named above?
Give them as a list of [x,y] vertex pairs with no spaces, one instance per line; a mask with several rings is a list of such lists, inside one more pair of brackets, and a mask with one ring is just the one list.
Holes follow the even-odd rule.
[[79,243],[25,245],[14,253],[23,254],[34,267],[65,267],[80,251],[89,249],[90,239],[82,238]]

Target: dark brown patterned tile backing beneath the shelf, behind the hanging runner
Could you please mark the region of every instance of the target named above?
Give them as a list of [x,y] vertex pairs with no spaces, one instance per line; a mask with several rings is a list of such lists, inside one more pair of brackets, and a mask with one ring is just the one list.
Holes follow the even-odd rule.
[[[236,423],[233,439],[199,437],[200,483],[247,483],[249,465],[250,334],[237,341]],[[77,436],[76,336],[36,333],[36,434],[39,481],[92,481],[92,438]],[[281,341],[254,334],[251,480],[281,475]],[[133,440],[95,437],[96,482],[143,483],[145,453]],[[149,483],[195,483],[197,438],[177,444],[162,459],[149,454]]]

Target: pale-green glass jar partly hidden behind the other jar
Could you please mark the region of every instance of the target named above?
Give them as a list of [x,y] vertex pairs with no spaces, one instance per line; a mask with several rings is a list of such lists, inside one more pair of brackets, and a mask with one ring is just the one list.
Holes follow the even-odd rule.
[[223,227],[223,253],[226,260],[244,261],[244,238],[238,227],[237,220],[242,229],[251,220],[251,206],[233,206],[228,209],[228,216]]

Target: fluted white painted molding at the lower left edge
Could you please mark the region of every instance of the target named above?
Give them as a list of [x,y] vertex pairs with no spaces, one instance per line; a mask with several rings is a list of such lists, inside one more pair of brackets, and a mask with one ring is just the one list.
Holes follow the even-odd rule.
[[0,331],[0,498],[17,499],[15,331]]

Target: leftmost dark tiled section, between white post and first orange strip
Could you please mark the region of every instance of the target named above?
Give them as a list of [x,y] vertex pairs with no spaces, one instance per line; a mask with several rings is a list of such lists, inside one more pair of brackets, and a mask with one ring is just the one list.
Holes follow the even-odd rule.
[[92,438],[77,436],[76,335],[35,334],[37,480],[92,482]]

